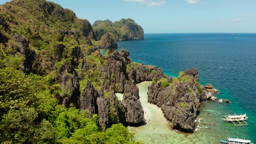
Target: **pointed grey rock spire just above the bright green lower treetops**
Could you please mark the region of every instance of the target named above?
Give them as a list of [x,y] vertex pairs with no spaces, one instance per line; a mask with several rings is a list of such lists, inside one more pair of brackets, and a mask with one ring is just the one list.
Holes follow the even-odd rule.
[[[98,91],[94,89],[92,82],[88,80],[84,92],[80,96],[80,110],[88,110],[89,118],[92,118],[93,114],[98,114],[98,97]],[[102,121],[103,123],[105,122]]]

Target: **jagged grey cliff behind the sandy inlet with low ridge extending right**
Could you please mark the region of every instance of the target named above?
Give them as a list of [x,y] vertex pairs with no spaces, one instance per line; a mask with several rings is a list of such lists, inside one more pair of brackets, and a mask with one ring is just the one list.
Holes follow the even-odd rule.
[[129,52],[125,50],[118,52],[115,49],[110,49],[102,58],[107,61],[100,70],[100,81],[101,85],[104,85],[105,91],[114,90],[114,92],[123,93],[126,80],[140,83],[165,78],[161,68],[147,66],[143,63],[132,63]]

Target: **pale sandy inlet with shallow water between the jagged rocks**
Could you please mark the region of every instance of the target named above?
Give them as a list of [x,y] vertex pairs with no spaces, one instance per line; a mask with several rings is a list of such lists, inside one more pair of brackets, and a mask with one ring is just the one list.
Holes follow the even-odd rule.
[[[152,82],[137,84],[139,88],[140,102],[144,110],[146,124],[142,126],[128,126],[130,132],[134,132],[135,141],[144,141],[146,144],[204,144],[209,143],[203,133],[186,134],[172,129],[171,123],[164,118],[161,108],[148,102],[148,86]],[[122,100],[123,94],[116,96]]]

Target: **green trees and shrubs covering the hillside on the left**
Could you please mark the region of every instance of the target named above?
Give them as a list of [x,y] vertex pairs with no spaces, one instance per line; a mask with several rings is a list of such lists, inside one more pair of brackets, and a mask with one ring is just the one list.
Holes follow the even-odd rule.
[[97,115],[89,119],[87,110],[59,104],[60,95],[69,92],[58,78],[66,62],[78,73],[81,92],[88,79],[100,89],[99,69],[106,61],[96,40],[88,20],[53,2],[0,5],[0,143],[134,143],[134,134],[122,124],[103,130]]

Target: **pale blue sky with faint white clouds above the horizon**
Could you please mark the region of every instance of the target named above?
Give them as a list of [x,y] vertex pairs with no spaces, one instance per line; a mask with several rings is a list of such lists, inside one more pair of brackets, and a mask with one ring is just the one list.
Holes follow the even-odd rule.
[[[10,0],[0,0],[0,4]],[[48,0],[93,24],[132,18],[144,33],[256,33],[256,0]]]

